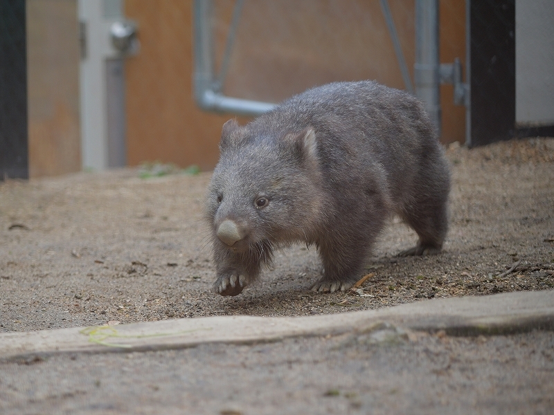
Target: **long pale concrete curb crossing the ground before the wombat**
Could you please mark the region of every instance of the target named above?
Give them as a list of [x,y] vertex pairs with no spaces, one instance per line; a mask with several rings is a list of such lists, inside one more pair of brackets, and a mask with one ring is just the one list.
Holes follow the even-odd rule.
[[379,310],[307,317],[218,316],[117,326],[0,334],[0,359],[57,353],[181,349],[224,342],[252,344],[295,336],[368,331],[388,323],[414,331],[492,335],[554,330],[554,290],[431,299]]

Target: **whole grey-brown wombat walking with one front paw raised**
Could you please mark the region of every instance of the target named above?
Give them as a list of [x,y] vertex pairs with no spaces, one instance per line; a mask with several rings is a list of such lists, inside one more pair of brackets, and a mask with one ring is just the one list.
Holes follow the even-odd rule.
[[447,233],[449,167],[422,103],[377,82],[295,95],[244,127],[222,129],[206,216],[214,290],[238,295],[275,248],[315,244],[319,292],[344,291],[392,214],[418,233],[401,255],[436,253]]

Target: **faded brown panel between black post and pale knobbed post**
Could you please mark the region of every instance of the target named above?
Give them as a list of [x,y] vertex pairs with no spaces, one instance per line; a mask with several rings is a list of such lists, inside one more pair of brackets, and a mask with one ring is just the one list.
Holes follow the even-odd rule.
[[27,0],[31,177],[81,169],[75,0]]

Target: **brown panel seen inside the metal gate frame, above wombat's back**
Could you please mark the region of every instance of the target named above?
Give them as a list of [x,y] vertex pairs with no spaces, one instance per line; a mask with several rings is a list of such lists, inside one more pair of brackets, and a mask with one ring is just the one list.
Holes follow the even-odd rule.
[[[223,55],[234,4],[215,1],[216,57]],[[389,4],[413,73],[413,2]],[[226,95],[279,102],[312,86],[368,79],[404,89],[378,1],[244,1]]]

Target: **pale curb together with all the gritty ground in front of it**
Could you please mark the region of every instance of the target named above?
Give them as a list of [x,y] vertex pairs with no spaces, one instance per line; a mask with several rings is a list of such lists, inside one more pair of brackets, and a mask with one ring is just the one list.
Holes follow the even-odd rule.
[[554,291],[0,335],[0,414],[553,413]]

